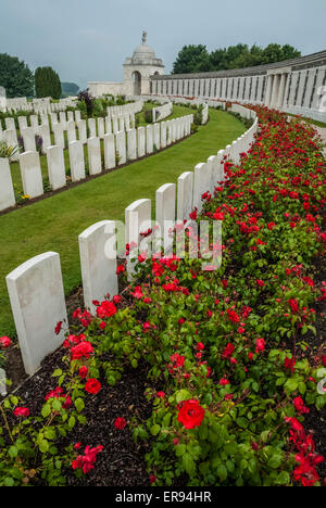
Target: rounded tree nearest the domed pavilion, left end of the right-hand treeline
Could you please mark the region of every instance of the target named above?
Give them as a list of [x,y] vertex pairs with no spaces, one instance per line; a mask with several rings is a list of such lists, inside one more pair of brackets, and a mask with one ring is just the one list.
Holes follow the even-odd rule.
[[184,46],[173,64],[172,74],[204,73],[211,69],[210,55],[205,46]]

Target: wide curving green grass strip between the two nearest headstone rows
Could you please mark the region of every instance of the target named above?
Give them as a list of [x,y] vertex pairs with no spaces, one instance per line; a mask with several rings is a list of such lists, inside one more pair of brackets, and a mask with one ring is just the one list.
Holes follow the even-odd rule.
[[[185,109],[185,113],[191,112]],[[30,257],[47,251],[61,256],[65,293],[80,284],[78,234],[99,220],[124,219],[136,200],[154,200],[163,183],[205,162],[246,130],[243,124],[222,111],[210,110],[211,122],[185,141],[0,217],[0,336],[14,335],[5,276]],[[153,201],[154,206],[154,201]]]

